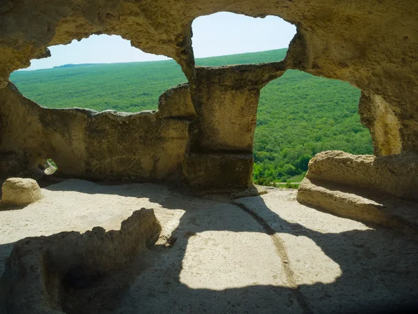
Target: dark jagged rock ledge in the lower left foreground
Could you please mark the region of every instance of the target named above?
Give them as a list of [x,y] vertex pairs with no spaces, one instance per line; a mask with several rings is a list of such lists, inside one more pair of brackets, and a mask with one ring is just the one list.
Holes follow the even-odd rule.
[[153,209],[143,208],[118,231],[94,227],[17,241],[1,277],[0,306],[7,313],[63,313],[65,294],[123,267],[153,246],[160,231]]

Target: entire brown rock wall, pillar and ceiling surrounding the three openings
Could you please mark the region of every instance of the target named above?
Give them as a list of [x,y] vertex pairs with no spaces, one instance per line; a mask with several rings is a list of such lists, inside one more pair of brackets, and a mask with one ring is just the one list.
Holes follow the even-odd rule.
[[[295,24],[297,35],[284,63],[196,68],[192,22],[219,11],[277,15]],[[247,186],[258,93],[286,68],[344,80],[362,89],[359,112],[371,130],[376,154],[417,153],[417,15],[415,0],[3,1],[1,171],[33,167],[45,152],[53,151],[49,157],[55,157],[70,176],[135,180],[183,173],[192,185]],[[13,91],[8,82],[13,70],[29,66],[31,59],[47,57],[49,45],[92,33],[121,35],[144,52],[164,54],[180,64],[197,113],[189,141],[187,124],[175,119],[182,115],[166,119],[164,114],[151,113],[124,117],[111,112],[46,110]],[[30,123],[10,124],[26,120]],[[132,140],[123,139],[124,132]],[[40,138],[45,140],[39,142]],[[183,172],[174,171],[182,163]],[[235,171],[245,174],[236,180],[224,178],[226,167],[234,165]],[[209,171],[212,174],[207,176]]]

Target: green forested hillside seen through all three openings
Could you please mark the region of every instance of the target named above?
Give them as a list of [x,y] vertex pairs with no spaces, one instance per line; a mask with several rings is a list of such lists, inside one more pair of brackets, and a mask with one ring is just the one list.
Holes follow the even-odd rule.
[[[270,50],[196,59],[196,65],[262,63],[285,56],[286,49]],[[45,107],[138,112],[157,109],[160,94],[186,78],[180,66],[168,60],[17,71],[10,80],[24,96]],[[346,82],[298,70],[288,70],[266,85],[257,111],[254,182],[300,179],[309,159],[320,151],[373,154],[369,130],[359,121],[359,96],[360,91]]]

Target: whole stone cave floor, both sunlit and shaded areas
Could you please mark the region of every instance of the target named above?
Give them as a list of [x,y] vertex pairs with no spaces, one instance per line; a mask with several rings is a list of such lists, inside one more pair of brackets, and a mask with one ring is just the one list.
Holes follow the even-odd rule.
[[42,193],[0,211],[0,274],[24,237],[118,230],[141,207],[162,224],[152,251],[73,291],[66,313],[377,313],[418,300],[416,241],[305,207],[295,190],[230,200],[70,179]]

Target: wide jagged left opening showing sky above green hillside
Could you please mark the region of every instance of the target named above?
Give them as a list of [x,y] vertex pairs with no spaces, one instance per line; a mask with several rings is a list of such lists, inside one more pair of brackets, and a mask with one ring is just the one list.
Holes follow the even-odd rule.
[[49,50],[52,57],[10,75],[26,98],[49,108],[155,110],[164,91],[187,81],[176,61],[141,52],[121,36],[92,35]]

